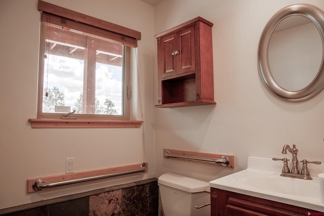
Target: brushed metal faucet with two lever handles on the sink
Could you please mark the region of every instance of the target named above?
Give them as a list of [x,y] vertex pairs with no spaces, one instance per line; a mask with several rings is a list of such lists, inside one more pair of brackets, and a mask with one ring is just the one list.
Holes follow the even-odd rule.
[[312,178],[310,177],[310,173],[309,170],[307,168],[307,164],[308,163],[314,163],[314,164],[321,164],[320,161],[308,161],[306,159],[301,160],[300,162],[303,163],[303,168],[301,173],[299,172],[298,169],[298,159],[297,159],[297,153],[298,153],[298,149],[296,148],[296,145],[293,145],[293,148],[291,148],[289,145],[285,145],[284,148],[282,148],[282,154],[287,154],[287,150],[292,153],[293,155],[293,159],[292,159],[292,163],[293,163],[293,168],[292,171],[290,171],[289,167],[288,167],[288,161],[289,159],[287,158],[272,158],[272,160],[281,160],[284,161],[284,168],[282,168],[281,174],[280,176],[283,177],[291,177],[291,178],[297,178],[297,179],[306,179],[306,180],[312,180]]

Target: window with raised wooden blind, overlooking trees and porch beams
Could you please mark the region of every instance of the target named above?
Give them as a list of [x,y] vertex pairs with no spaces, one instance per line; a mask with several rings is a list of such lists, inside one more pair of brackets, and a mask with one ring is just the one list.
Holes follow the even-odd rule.
[[[38,9],[42,6],[58,14],[42,13],[37,118],[61,118],[75,110],[71,116],[77,119],[129,120],[130,47],[138,38],[105,29],[114,24],[39,1]],[[105,26],[75,21],[79,17]]]

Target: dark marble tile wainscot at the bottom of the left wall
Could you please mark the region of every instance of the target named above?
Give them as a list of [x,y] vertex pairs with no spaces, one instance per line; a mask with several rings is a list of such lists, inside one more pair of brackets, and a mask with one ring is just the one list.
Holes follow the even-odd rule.
[[[44,204],[42,205],[42,203]],[[3,210],[4,209],[0,210],[0,212]],[[82,194],[60,197],[53,200],[30,203],[22,206],[8,208],[7,211],[8,213],[0,213],[0,215],[157,216],[157,179],[152,178],[149,180],[143,180],[126,185],[114,186]]]

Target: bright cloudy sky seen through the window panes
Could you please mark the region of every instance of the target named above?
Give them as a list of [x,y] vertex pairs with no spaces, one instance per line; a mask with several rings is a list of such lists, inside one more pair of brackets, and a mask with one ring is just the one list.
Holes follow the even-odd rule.
[[[83,60],[48,55],[45,59],[43,88],[57,87],[63,91],[65,106],[71,106],[73,109],[74,103],[83,92],[83,73]],[[100,101],[100,105],[104,104],[105,99],[110,99],[115,105],[114,109],[117,110],[117,114],[122,114],[122,88],[121,67],[97,63],[96,98]]]

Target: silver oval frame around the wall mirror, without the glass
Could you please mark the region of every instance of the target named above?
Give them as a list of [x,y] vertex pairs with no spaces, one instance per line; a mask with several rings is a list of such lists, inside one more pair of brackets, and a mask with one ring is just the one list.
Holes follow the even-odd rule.
[[[280,87],[280,85],[273,78],[269,62],[268,62],[268,48],[271,35],[276,26],[285,18],[292,15],[301,15],[310,19],[317,27],[321,42],[322,42],[322,58],[319,70],[314,79],[303,89],[298,91],[288,91]],[[287,6],[277,13],[275,13],[264,27],[258,48],[258,69],[260,77],[266,87],[276,97],[289,102],[306,101],[317,95],[324,88],[324,13],[317,7],[308,4],[294,4]]]

